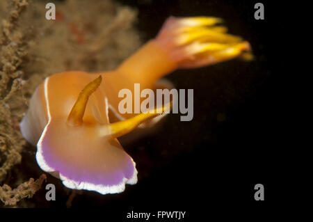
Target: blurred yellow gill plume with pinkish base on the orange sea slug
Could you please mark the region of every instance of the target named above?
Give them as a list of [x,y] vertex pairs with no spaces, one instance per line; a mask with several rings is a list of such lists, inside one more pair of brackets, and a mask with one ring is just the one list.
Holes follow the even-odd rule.
[[231,35],[222,19],[189,17],[169,19],[157,40],[164,45],[181,68],[210,65],[235,57],[250,61],[253,56],[249,42]]

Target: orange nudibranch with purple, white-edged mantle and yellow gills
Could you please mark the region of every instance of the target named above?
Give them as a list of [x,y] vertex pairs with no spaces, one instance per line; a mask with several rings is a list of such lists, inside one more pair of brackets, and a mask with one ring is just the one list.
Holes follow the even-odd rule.
[[125,184],[136,184],[136,164],[118,137],[139,125],[147,127],[142,124],[145,120],[155,124],[152,120],[160,119],[160,111],[171,109],[171,103],[146,113],[119,113],[118,92],[134,90],[138,83],[141,88],[170,88],[171,84],[158,80],[178,68],[198,68],[235,57],[249,60],[249,43],[228,34],[220,22],[215,17],[170,17],[157,38],[116,70],[47,77],[33,93],[20,123],[24,138],[37,145],[40,168],[70,189],[120,193]]

